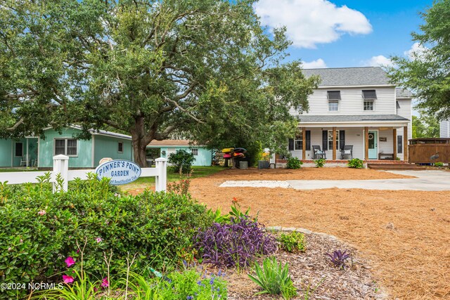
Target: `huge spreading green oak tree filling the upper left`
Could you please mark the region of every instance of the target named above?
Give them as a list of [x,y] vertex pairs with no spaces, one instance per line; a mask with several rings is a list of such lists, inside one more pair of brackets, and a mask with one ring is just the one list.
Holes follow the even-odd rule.
[[131,134],[141,166],[146,145],[174,132],[276,147],[318,81],[281,64],[285,30],[267,34],[252,0],[4,2],[3,137],[113,128]]

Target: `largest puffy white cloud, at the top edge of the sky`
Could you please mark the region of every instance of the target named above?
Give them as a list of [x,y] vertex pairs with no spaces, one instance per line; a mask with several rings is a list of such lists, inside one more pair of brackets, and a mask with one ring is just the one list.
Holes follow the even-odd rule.
[[286,26],[286,34],[299,48],[316,48],[316,44],[336,41],[345,33],[372,32],[363,13],[327,0],[260,0],[254,7],[262,25]]

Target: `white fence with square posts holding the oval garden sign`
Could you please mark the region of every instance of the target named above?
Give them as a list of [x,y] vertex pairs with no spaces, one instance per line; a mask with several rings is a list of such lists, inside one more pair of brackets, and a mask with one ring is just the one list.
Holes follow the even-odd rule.
[[[8,181],[8,184],[38,183],[37,177],[44,176],[46,173],[46,171],[0,173],[0,182]],[[55,191],[57,174],[63,178],[63,190],[67,192],[69,181],[73,181],[75,178],[85,180],[88,173],[94,173],[94,170],[69,170],[68,156],[53,156],[53,171],[51,171],[50,179],[50,182],[53,183],[53,191]],[[155,159],[155,168],[141,168],[141,177],[155,177],[155,190],[165,192],[167,190],[167,159],[163,157]]]

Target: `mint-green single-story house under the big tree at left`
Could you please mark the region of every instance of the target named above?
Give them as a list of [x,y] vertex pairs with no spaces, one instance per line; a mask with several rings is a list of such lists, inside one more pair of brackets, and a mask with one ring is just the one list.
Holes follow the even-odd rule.
[[95,168],[103,157],[133,161],[131,136],[110,131],[91,131],[90,140],[75,138],[81,132],[70,126],[58,133],[44,129],[45,138],[29,136],[0,140],[0,167],[53,168],[54,155],[67,155],[69,168]]

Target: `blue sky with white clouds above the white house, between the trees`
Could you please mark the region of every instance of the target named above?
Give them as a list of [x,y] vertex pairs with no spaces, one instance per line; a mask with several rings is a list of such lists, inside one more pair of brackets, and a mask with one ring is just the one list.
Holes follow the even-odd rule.
[[[287,60],[304,68],[389,65],[418,50],[411,32],[432,0],[259,0],[262,25],[284,25],[293,45]],[[420,50],[420,49],[419,49]]]

